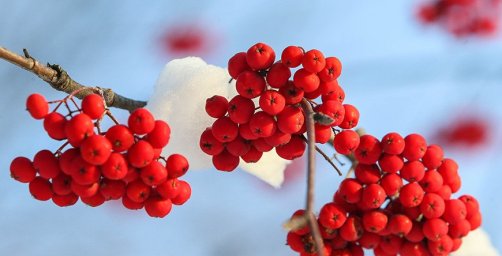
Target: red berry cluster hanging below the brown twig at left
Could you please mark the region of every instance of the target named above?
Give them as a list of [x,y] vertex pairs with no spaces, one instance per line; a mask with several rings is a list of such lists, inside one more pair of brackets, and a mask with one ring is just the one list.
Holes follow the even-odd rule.
[[[166,122],[139,108],[130,114],[127,126],[119,124],[96,93],[87,95],[80,106],[73,94],[50,103],[58,105],[49,113],[49,102],[32,94],[26,106],[33,118],[43,120],[49,137],[64,144],[55,152],[39,151],[33,160],[17,157],[10,165],[12,178],[29,183],[35,199],[52,199],[61,207],[79,198],[93,207],[121,199],[126,208],[144,207],[152,217],[164,217],[172,204],[189,199],[190,185],[178,180],[188,170],[187,159],[180,154],[160,156],[171,133]],[[62,105],[66,116],[57,111]],[[102,131],[105,116],[115,125]],[[67,145],[71,147],[64,150]]]

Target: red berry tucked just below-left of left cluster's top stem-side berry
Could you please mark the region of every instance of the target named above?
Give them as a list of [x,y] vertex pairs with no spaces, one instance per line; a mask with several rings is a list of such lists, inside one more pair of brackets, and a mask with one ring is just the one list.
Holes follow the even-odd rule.
[[79,147],[85,138],[94,135],[94,123],[88,115],[80,113],[66,122],[65,133],[68,142]]

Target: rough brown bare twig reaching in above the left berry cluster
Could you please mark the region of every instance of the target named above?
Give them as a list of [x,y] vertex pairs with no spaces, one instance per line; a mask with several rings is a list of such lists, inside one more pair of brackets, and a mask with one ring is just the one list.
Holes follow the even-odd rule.
[[[26,49],[23,49],[23,52],[24,57],[0,46],[1,59],[4,59],[37,75],[40,79],[44,80],[50,86],[52,86],[52,88],[58,91],[71,94],[74,91],[78,90],[79,92],[76,93],[75,96],[79,99],[83,99],[88,94],[91,94],[95,89],[94,87],[79,84],[78,82],[73,80],[70,75],[68,75],[68,73],[66,73],[66,71],[64,71],[63,68],[61,68],[59,65],[42,65],[36,59],[31,57]],[[136,101],[126,98],[113,92],[111,89],[101,89],[103,90],[103,97],[105,99],[106,105],[109,107],[133,111],[146,105],[145,101]]]

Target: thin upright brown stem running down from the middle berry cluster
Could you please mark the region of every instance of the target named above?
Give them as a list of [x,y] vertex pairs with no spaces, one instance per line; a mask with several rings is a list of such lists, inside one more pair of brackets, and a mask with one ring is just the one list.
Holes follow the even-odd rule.
[[305,218],[308,220],[310,231],[317,248],[317,255],[324,255],[324,244],[319,231],[319,226],[315,218],[314,208],[314,179],[315,179],[315,127],[314,127],[314,111],[310,103],[303,99],[302,108],[305,112],[305,125],[307,127],[307,203],[305,207]]

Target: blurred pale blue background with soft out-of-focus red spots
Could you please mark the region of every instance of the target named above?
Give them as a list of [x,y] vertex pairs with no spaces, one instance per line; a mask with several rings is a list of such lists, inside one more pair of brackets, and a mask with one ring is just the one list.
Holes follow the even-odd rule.
[[[480,201],[483,228],[502,250],[502,44],[497,34],[455,36],[417,18],[416,1],[7,1],[0,0],[0,46],[29,49],[76,81],[147,100],[169,60],[200,56],[226,67],[256,42],[280,52],[316,48],[343,63],[346,102],[360,127],[381,138],[422,133],[457,160],[456,197]],[[497,17],[498,18],[498,17]],[[275,190],[236,170],[189,172],[192,198],[164,219],[120,202],[59,208],[34,200],[9,177],[16,156],[57,149],[25,109],[34,92],[64,94],[0,61],[0,254],[292,255],[282,223],[304,206],[304,163]],[[201,85],[203,86],[203,85]],[[182,107],[182,106],[180,106]],[[126,113],[114,110],[120,120]],[[176,135],[173,135],[176,136]],[[198,140],[198,137],[194,137]],[[328,153],[334,150],[324,147]],[[344,171],[348,166],[344,166]],[[320,158],[317,209],[342,177]]]

